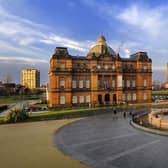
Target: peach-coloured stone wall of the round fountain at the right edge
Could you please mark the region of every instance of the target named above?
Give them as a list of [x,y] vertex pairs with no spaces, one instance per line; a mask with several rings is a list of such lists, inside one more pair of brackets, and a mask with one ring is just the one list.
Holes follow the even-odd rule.
[[157,109],[152,110],[148,114],[148,122],[150,125],[161,128],[161,129],[168,129],[168,121],[163,119],[164,114],[168,113],[168,109]]

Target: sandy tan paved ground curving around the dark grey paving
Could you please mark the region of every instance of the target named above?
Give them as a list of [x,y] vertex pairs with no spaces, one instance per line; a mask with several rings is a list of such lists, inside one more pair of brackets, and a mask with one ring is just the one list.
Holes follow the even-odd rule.
[[55,131],[75,120],[69,119],[0,125],[0,167],[88,167],[77,160],[63,155],[53,144]]

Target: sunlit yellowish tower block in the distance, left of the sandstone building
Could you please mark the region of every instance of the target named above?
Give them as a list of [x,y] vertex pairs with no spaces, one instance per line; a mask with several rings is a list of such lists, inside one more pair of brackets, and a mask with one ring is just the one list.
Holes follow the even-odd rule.
[[40,72],[37,69],[23,69],[22,85],[29,89],[40,87]]

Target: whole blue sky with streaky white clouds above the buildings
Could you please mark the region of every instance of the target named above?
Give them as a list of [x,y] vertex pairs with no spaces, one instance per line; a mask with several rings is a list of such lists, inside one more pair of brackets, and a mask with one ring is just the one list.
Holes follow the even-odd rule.
[[116,52],[122,44],[122,57],[148,52],[153,79],[164,80],[167,13],[163,0],[0,0],[0,80],[19,83],[22,68],[38,68],[47,83],[56,46],[85,56],[100,33]]

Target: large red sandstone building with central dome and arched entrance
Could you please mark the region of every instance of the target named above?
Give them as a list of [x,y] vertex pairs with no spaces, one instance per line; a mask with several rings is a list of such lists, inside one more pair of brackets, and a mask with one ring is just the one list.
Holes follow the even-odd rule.
[[151,102],[152,61],[146,52],[121,58],[104,36],[86,57],[56,47],[50,60],[49,105],[99,106]]

